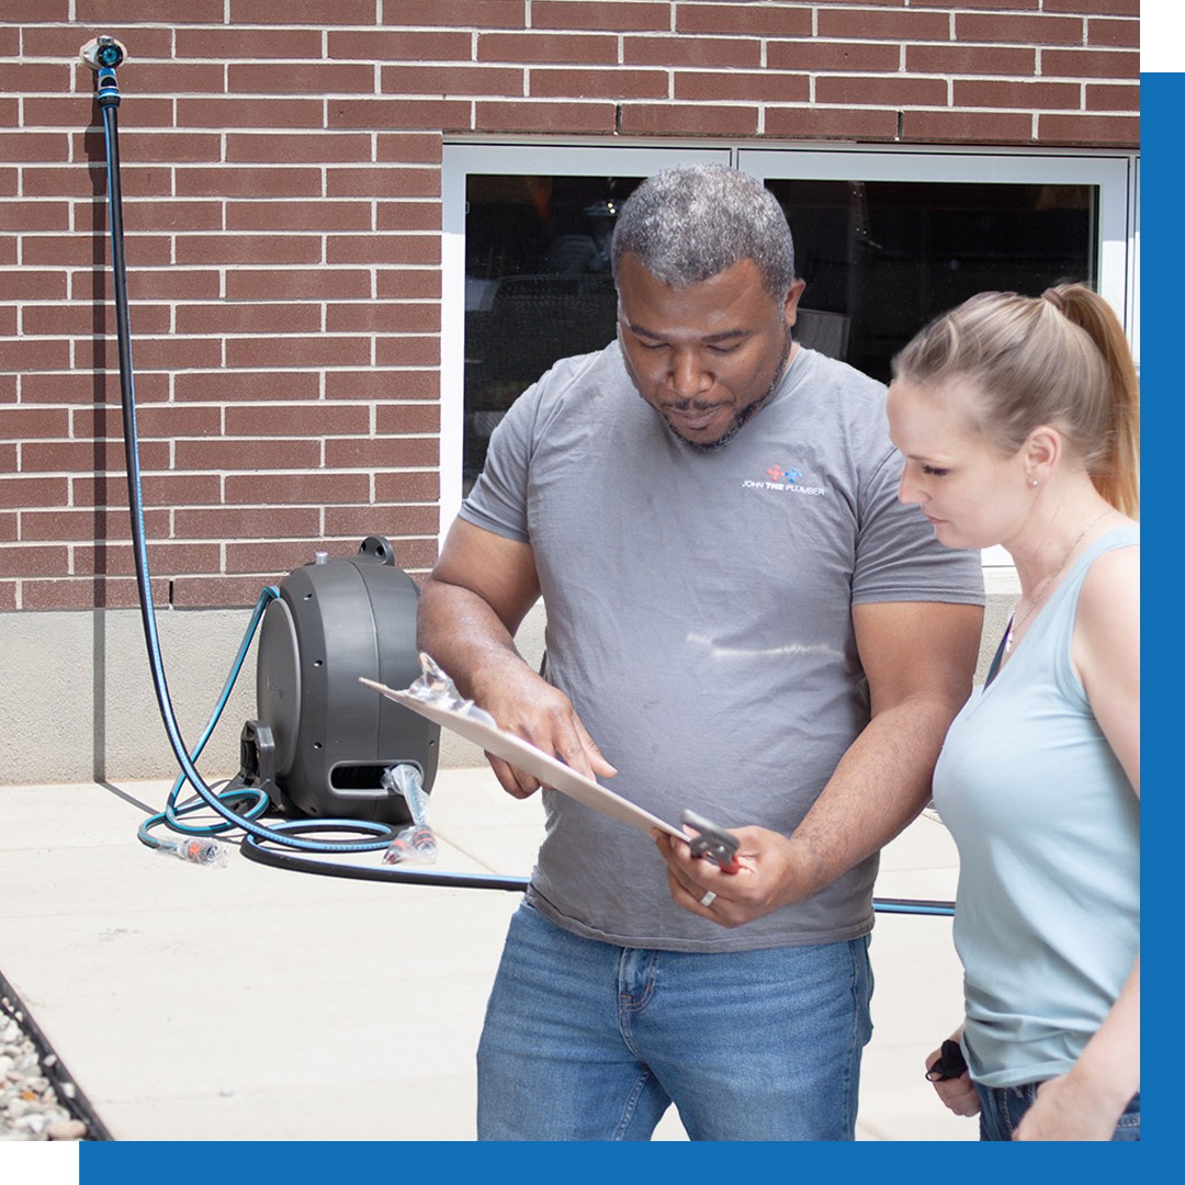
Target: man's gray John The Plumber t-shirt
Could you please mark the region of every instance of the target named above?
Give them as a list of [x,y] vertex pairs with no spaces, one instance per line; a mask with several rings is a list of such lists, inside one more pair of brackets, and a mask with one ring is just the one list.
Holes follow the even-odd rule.
[[[897,500],[884,395],[799,350],[766,406],[703,451],[641,399],[614,342],[557,363],[499,424],[461,517],[531,544],[547,678],[617,794],[675,826],[690,807],[792,832],[869,720],[852,604],[982,603],[979,553]],[[576,934],[716,952],[872,925],[876,857],[725,930],[672,902],[645,833],[544,794],[529,901]]]

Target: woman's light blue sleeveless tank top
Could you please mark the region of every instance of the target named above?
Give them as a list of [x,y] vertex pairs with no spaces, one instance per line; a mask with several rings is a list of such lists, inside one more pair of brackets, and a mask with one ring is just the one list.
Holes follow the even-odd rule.
[[1126,524],[1080,557],[955,718],[935,769],[959,847],[963,1044],[984,1085],[1066,1072],[1139,950],[1140,803],[1070,662],[1090,564],[1139,543]]

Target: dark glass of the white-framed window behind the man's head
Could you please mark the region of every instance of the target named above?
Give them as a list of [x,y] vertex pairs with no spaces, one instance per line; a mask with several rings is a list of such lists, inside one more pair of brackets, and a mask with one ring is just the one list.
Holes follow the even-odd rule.
[[[616,332],[615,210],[641,178],[470,174],[466,188],[465,480],[552,363]],[[1097,282],[1085,185],[770,179],[807,287],[795,338],[876,378],[930,318],[986,289]]]

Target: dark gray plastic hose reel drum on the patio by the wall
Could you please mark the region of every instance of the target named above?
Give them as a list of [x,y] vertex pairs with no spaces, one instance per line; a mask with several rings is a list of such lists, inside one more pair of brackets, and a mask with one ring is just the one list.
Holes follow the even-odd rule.
[[316,559],[289,572],[260,624],[258,719],[242,735],[248,786],[283,814],[411,821],[406,800],[383,784],[415,766],[424,792],[440,758],[440,725],[358,681],[406,687],[421,675],[419,589],[395,566],[391,544],[369,536],[358,555]]

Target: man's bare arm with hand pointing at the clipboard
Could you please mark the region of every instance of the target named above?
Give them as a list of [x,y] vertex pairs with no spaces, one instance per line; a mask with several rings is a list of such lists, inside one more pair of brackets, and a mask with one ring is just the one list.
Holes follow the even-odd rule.
[[[457,690],[498,724],[589,776],[610,766],[571,702],[523,660],[514,634],[539,598],[531,545],[457,519],[419,596],[416,645]],[[499,782],[517,798],[537,779],[487,754]]]

